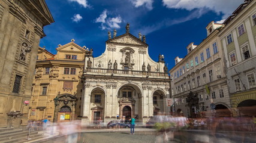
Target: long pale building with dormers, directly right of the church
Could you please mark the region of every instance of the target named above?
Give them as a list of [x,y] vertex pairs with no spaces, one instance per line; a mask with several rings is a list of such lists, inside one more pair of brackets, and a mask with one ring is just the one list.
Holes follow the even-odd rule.
[[[175,58],[171,74],[173,111],[187,117],[230,116],[230,98],[225,74],[224,55],[218,38],[222,24],[210,22],[207,38],[199,45],[190,43],[188,54]],[[214,110],[211,110],[215,106]]]

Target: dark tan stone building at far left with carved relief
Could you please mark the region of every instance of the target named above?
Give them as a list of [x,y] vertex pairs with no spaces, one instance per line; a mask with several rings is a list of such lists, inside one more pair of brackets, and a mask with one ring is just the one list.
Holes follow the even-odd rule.
[[0,1],[0,128],[27,125],[38,45],[53,22],[44,0]]

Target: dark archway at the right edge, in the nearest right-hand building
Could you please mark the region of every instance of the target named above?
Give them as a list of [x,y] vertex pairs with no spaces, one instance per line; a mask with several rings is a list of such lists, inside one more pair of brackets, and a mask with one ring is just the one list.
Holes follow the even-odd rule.
[[256,116],[256,100],[245,100],[237,105],[239,116]]

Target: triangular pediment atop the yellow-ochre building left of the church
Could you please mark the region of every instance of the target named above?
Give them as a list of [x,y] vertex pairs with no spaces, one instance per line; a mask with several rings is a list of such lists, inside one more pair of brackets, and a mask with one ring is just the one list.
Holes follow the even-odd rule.
[[56,50],[65,52],[86,52],[87,50],[77,45],[74,42],[67,43],[65,45],[60,45]]

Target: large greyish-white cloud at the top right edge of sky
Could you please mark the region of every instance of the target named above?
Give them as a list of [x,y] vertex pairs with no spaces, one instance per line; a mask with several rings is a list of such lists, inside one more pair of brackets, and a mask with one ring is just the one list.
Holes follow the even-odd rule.
[[244,0],[162,0],[167,8],[193,10],[195,8],[209,8],[215,13],[222,13],[223,18],[233,13]]

